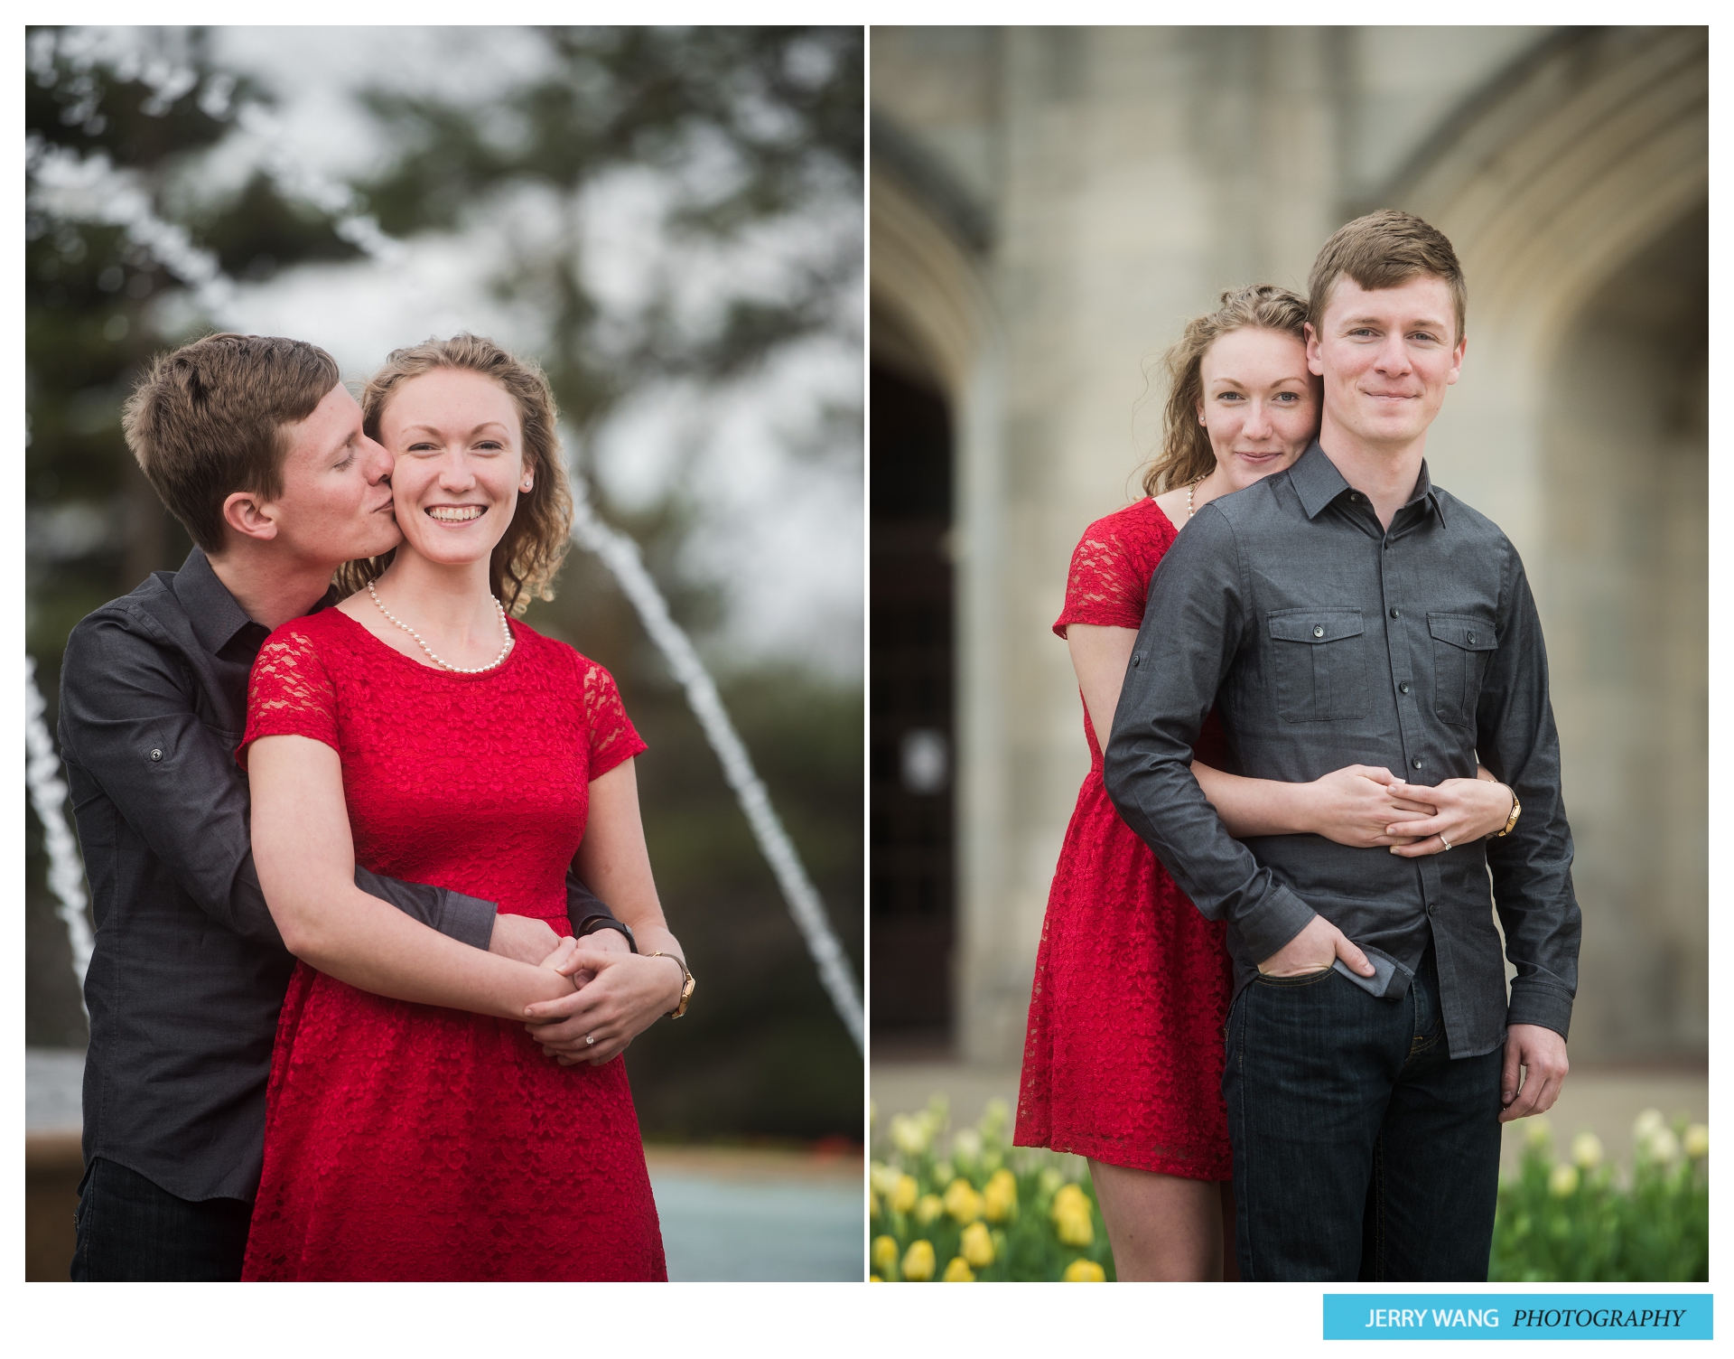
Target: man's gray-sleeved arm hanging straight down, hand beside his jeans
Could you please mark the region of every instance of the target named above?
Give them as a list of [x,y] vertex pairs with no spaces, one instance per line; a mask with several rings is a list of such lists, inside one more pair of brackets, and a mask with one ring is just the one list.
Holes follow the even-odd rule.
[[[1505,1007],[1509,1036],[1502,1119],[1545,1111],[1566,1078],[1566,1036],[1578,993],[1583,916],[1571,885],[1571,828],[1559,786],[1559,732],[1547,686],[1547,647],[1529,581],[1510,550],[1509,599],[1498,651],[1476,705],[1476,746],[1493,776],[1516,790],[1522,814],[1488,840],[1493,903],[1505,956],[1517,975]],[[1526,1078],[1519,1083],[1517,1067]]]

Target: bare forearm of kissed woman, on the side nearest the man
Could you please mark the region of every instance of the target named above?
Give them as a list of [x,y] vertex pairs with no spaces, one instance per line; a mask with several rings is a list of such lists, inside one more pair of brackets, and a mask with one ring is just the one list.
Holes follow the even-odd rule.
[[331,746],[262,736],[246,762],[258,885],[297,958],[378,996],[501,1019],[570,993],[551,967],[460,944],[355,887],[343,769]]

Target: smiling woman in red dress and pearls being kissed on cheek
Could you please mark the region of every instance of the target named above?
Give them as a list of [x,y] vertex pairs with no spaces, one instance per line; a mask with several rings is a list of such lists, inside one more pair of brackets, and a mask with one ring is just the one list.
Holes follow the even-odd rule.
[[[619,691],[508,620],[548,597],[565,548],[553,397],[538,370],[460,335],[394,352],[362,411],[395,458],[404,542],[335,609],[272,634],[239,752],[258,880],[302,960],[244,1277],[664,1279],[626,1069],[609,1060],[628,1026],[598,1012],[593,1059],[565,1066],[525,1024],[579,968],[626,968],[668,1012],[690,995]],[[565,939],[532,967],[352,885],[362,863],[569,936],[574,850],[642,955]]]

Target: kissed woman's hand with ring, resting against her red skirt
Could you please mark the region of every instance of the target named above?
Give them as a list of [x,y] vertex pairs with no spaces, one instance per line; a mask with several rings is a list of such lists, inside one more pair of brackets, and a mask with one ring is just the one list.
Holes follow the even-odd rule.
[[[619,934],[598,930],[598,934]],[[685,975],[671,958],[643,958],[631,951],[584,948],[586,936],[557,968],[567,975],[593,974],[584,989],[560,1000],[531,1005],[524,1014],[531,1038],[560,1066],[600,1066],[626,1050],[640,1033],[680,1005]],[[624,942],[624,939],[621,941]],[[595,1038],[595,1043],[586,1043]]]

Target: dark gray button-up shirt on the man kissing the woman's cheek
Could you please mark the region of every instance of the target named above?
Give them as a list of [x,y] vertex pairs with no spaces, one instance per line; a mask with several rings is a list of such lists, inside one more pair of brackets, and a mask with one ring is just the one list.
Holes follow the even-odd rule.
[[[265,635],[192,548],[180,571],[73,628],[61,666],[61,758],[97,925],[85,1163],[118,1161],[184,1199],[258,1189],[265,1078],[295,967],[253,871],[234,760]],[[489,944],[492,903],[359,866],[355,885]],[[576,878],[567,897],[574,920],[607,915]]]

